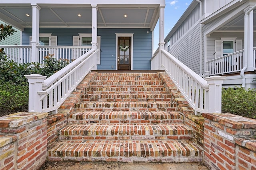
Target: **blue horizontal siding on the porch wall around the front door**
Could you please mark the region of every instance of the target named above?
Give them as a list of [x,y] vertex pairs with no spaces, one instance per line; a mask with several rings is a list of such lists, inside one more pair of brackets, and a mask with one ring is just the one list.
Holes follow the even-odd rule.
[[[149,33],[147,33],[147,31]],[[58,38],[58,45],[72,45],[73,35],[91,33],[91,28],[40,28],[40,33],[52,33]],[[99,70],[116,69],[116,33],[133,33],[133,70],[150,70],[152,57],[152,32],[150,29],[110,29],[99,28],[101,36],[101,61]],[[22,45],[29,45],[31,28],[22,32]],[[114,68],[111,68],[114,66]]]

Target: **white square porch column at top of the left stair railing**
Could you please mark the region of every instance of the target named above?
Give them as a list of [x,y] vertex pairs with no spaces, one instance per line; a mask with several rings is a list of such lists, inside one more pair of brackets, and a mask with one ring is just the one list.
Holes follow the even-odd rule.
[[92,49],[97,49],[97,14],[98,14],[98,6],[96,4],[92,4]]

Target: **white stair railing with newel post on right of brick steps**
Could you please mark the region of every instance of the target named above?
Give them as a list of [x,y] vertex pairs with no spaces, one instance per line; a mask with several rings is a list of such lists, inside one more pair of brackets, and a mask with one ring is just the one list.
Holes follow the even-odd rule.
[[[156,53],[152,68],[166,71],[196,113],[221,113],[221,84],[226,77],[211,76],[206,81],[164,49]],[[156,60],[159,66],[155,66]]]

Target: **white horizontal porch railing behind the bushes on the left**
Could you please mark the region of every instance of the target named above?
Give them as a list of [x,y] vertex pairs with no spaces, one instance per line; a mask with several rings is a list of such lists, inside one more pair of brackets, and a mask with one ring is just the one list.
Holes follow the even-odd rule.
[[[7,56],[17,63],[31,63],[32,57],[34,57],[29,45],[1,45],[0,48],[4,48]],[[71,62],[91,49],[91,46],[37,46],[36,61],[42,64],[45,56],[54,54],[53,57],[58,60],[66,59]]]

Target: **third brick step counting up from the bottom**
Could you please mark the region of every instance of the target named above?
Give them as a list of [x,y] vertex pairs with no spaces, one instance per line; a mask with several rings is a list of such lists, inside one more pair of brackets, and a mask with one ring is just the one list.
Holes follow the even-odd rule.
[[183,123],[177,111],[75,111],[68,123]]

